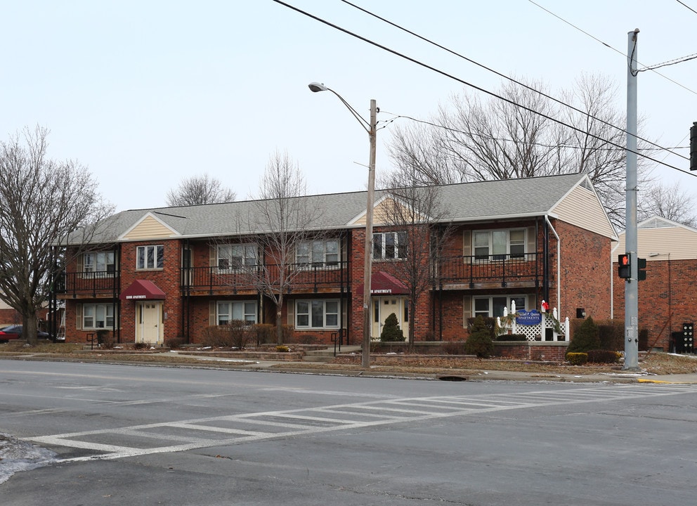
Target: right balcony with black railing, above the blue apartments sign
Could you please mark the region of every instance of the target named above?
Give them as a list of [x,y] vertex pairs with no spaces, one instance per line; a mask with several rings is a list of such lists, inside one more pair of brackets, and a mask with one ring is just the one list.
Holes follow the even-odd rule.
[[444,257],[436,280],[444,289],[538,287],[542,254],[496,254]]

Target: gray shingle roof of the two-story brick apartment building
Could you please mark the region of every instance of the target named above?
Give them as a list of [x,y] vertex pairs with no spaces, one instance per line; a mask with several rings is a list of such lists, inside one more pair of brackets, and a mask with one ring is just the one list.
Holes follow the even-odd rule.
[[[444,221],[477,221],[506,219],[547,214],[564,195],[581,181],[585,174],[545,176],[530,179],[508,179],[441,186]],[[376,202],[384,195],[377,191]],[[317,211],[313,228],[329,230],[346,228],[351,220],[365,212],[367,193],[332,193],[309,195],[308,206]],[[183,237],[211,237],[254,233],[258,223],[259,201],[247,200],[183,207],[131,209],[110,216],[100,226],[93,242],[114,242],[148,213],[166,223]],[[252,219],[250,219],[252,217]]]

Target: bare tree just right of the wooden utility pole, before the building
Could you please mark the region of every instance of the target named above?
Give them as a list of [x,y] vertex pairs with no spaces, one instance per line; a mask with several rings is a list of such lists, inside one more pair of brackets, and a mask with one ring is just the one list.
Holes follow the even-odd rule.
[[417,304],[424,292],[434,284],[436,265],[452,228],[441,223],[440,188],[422,186],[418,171],[393,174],[387,198],[380,206],[377,222],[384,223],[397,238],[398,254],[393,256],[396,277],[409,291],[409,349],[415,341],[418,325]]

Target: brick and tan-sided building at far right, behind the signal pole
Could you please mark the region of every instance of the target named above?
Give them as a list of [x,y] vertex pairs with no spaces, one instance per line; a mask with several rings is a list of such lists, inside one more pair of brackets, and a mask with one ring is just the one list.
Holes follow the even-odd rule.
[[[639,281],[639,330],[649,331],[649,349],[676,351],[673,342],[683,323],[697,322],[697,230],[654,216],[637,225],[637,256],[646,259],[646,280]],[[618,278],[618,255],[625,253],[625,233],[613,252],[613,313],[625,318],[625,280]],[[632,283],[637,281],[632,280]],[[689,338],[689,337],[688,337]],[[682,337],[681,337],[682,339]],[[680,340],[678,344],[682,342]],[[689,341],[688,341],[689,342]],[[644,344],[643,342],[640,344]],[[679,345],[677,351],[684,351]]]

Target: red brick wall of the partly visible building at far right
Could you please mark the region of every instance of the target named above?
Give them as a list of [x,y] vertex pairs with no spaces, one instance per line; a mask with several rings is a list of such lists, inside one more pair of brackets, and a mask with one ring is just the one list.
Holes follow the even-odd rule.
[[[649,330],[649,348],[672,351],[670,333],[683,323],[697,323],[696,260],[648,260],[646,280],[639,281],[639,330]],[[613,264],[615,320],[625,318],[625,280]],[[632,283],[637,283],[632,281]]]

